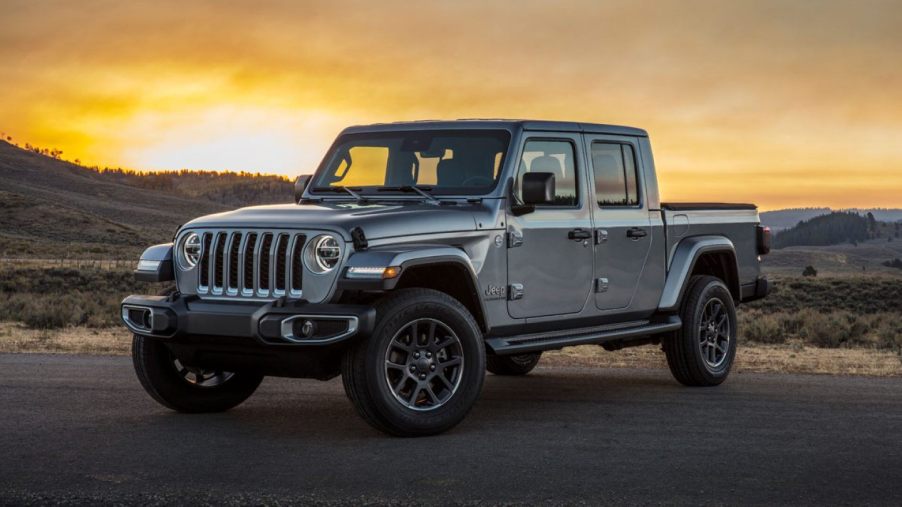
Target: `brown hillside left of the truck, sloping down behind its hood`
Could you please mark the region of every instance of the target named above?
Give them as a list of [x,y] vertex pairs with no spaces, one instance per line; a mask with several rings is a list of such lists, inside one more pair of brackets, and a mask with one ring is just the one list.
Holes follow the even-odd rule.
[[0,141],[0,257],[134,258],[193,217],[290,202],[274,176],[97,172]]

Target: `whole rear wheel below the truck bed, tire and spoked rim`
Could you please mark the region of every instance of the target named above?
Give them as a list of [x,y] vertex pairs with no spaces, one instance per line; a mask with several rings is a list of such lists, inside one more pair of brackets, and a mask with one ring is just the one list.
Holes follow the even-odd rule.
[[683,327],[664,341],[670,372],[687,386],[718,385],[736,356],[736,308],[719,278],[694,276],[680,309]]

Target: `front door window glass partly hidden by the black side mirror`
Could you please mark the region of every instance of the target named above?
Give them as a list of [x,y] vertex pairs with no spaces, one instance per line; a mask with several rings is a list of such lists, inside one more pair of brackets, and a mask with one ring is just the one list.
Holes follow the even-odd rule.
[[570,141],[527,141],[523,158],[517,171],[516,192],[521,202],[520,181],[528,172],[554,174],[554,204],[552,206],[576,206],[579,204],[573,143]]

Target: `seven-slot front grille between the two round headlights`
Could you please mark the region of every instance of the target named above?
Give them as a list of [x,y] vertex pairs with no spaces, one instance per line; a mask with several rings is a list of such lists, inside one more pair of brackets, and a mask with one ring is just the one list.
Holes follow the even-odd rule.
[[300,297],[306,236],[279,231],[201,233],[197,292],[235,297]]

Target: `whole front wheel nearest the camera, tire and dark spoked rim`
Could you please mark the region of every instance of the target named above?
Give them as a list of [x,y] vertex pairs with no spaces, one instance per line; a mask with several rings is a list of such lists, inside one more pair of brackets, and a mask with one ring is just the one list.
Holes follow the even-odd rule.
[[376,306],[373,335],[342,362],[345,392],[371,426],[397,436],[434,435],[459,423],[485,378],[482,334],[456,299],[404,289]]

